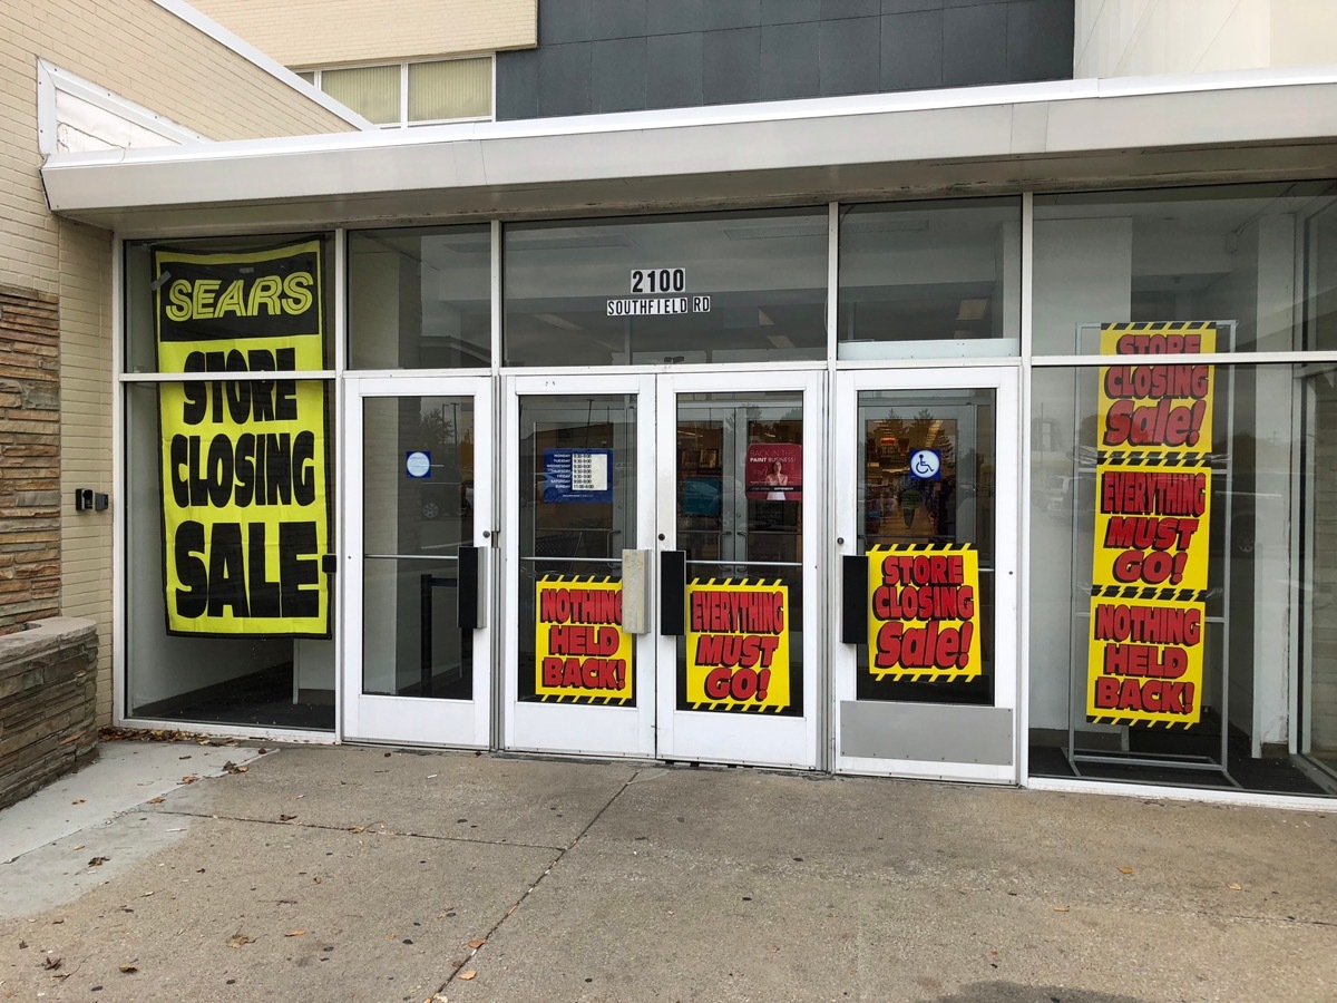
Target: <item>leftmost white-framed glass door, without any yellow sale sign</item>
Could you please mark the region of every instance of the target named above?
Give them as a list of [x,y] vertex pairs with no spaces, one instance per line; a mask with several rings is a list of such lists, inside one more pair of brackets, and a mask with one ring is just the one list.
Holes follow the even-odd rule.
[[353,378],[344,734],[487,748],[492,389],[487,378]]

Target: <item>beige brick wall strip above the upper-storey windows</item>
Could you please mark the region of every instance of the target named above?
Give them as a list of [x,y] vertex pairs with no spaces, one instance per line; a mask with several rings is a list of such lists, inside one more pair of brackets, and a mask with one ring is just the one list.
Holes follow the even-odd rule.
[[195,0],[283,66],[329,66],[533,48],[537,0]]

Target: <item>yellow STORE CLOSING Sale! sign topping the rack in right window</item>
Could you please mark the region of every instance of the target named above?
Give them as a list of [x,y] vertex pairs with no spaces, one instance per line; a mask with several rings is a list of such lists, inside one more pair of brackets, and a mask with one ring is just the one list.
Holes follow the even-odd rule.
[[1214,366],[1167,356],[1217,350],[1211,324],[1107,324],[1100,353],[1127,361],[1100,369],[1100,452],[1211,452]]

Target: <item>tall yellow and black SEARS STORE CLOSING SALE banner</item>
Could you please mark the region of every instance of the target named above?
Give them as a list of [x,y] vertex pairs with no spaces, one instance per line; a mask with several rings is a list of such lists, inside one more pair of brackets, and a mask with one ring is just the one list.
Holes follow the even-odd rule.
[[167,630],[330,635],[321,246],[154,254]]

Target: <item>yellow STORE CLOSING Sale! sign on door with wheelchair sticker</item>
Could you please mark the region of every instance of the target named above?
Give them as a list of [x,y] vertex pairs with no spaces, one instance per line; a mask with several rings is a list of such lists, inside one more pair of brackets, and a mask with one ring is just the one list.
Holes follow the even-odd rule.
[[868,551],[868,670],[881,681],[973,679],[980,657],[980,555],[969,544]]

